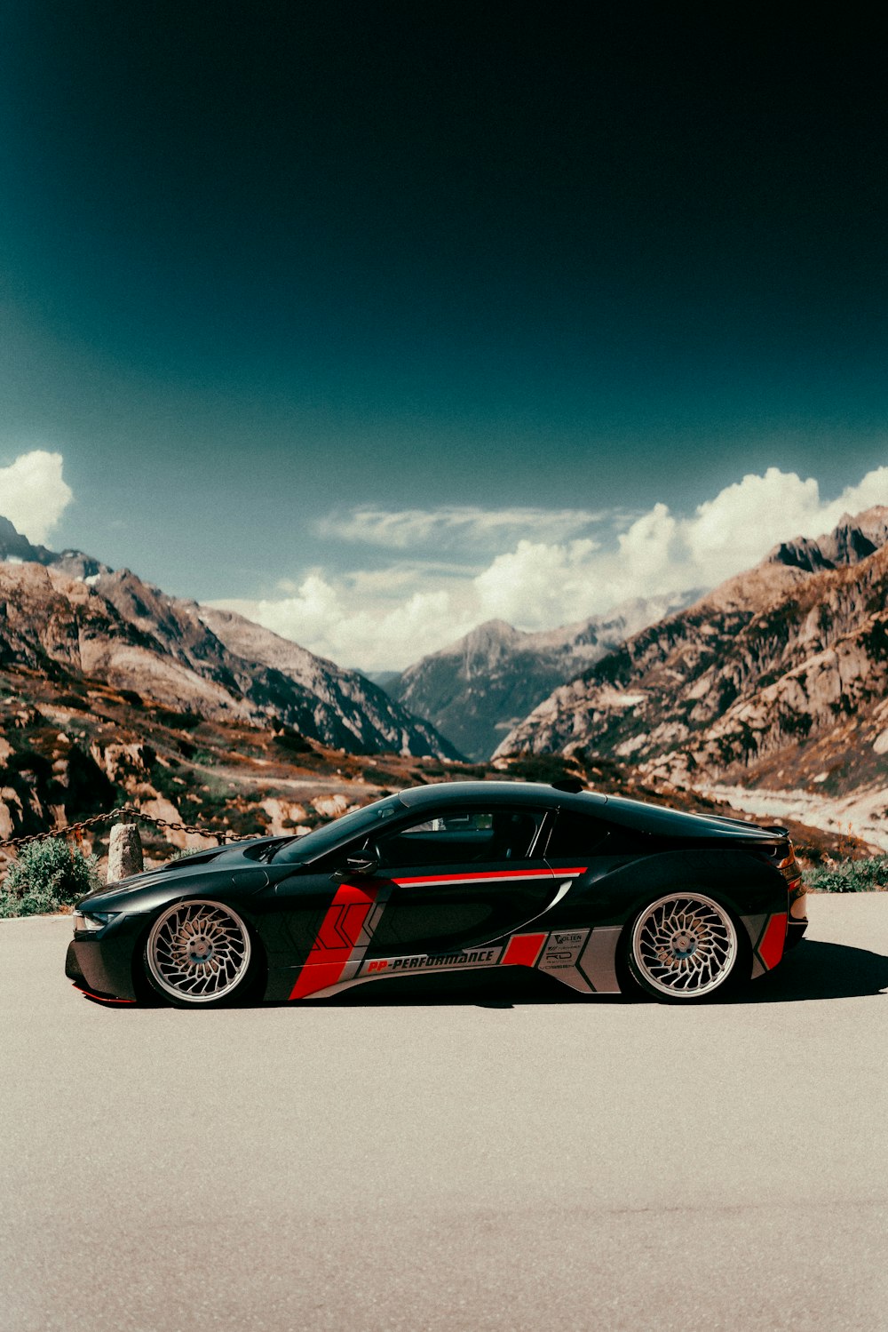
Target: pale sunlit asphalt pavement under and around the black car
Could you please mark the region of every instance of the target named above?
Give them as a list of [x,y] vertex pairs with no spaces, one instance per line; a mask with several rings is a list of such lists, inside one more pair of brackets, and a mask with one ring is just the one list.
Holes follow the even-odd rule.
[[811,916],[700,1008],[218,1012],[101,1007],[69,920],[0,922],[0,1329],[887,1328],[888,894]]

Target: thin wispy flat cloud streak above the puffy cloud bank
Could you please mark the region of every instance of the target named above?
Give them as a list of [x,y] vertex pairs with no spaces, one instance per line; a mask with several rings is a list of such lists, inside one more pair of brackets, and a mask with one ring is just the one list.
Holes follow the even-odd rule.
[[328,514],[317,523],[322,537],[365,542],[390,550],[409,550],[430,543],[454,542],[487,545],[533,533],[551,541],[582,531],[608,517],[588,509],[481,509],[475,505],[449,505],[439,509],[354,509],[347,514]]

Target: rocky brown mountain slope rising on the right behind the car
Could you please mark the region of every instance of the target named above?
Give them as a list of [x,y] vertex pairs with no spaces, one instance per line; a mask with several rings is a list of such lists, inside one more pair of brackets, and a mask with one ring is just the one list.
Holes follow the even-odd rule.
[[704,786],[888,785],[888,509],[777,546],[556,689],[499,754],[594,751]]

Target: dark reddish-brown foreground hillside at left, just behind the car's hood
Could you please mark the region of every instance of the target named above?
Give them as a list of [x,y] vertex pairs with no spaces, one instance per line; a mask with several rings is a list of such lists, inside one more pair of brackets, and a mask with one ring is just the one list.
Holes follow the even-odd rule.
[[[142,814],[148,856],[162,860],[170,843],[308,832],[391,790],[479,775],[450,759],[345,754],[280,722],[173,711],[88,677],[0,666],[0,843],[128,803]],[[111,822],[79,832],[79,844],[103,856]],[[11,854],[0,844],[0,879]]]

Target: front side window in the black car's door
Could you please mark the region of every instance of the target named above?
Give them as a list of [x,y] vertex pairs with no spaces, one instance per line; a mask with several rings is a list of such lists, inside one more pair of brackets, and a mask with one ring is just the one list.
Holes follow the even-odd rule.
[[449,810],[375,839],[382,866],[497,864],[539,854],[542,810]]

